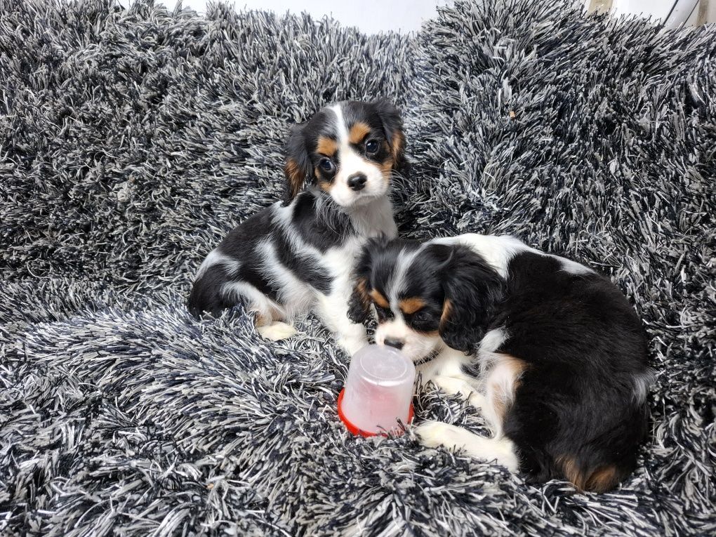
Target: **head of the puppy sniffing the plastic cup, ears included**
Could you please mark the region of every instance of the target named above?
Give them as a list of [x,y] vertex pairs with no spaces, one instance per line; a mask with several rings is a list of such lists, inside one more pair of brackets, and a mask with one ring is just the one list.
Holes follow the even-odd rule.
[[474,352],[503,290],[470,248],[384,239],[364,247],[355,282],[349,317],[362,322],[374,309],[375,342],[413,360],[445,346]]

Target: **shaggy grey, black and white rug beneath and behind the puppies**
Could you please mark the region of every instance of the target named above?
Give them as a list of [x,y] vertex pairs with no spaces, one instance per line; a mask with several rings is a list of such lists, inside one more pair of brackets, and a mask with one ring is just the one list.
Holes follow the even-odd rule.
[[[716,532],[716,29],[563,0],[446,9],[416,36],[0,0],[0,533]],[[190,278],[278,198],[288,125],[391,97],[407,236],[513,233],[599,267],[644,319],[657,382],[613,493],[523,483],[336,415],[347,357],[190,318]],[[417,419],[480,430],[430,393]]]

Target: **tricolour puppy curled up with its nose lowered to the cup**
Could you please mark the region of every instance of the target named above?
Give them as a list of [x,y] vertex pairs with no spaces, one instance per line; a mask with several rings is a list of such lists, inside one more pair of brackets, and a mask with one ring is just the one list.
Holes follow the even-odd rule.
[[634,470],[652,372],[642,325],[604,276],[508,236],[376,239],[349,315],[479,407],[493,437],[427,422],[425,445],[464,448],[528,479],[614,488]]

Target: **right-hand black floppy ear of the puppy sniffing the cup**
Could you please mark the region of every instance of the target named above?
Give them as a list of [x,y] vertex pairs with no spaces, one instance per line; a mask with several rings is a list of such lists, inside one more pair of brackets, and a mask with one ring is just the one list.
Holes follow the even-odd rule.
[[504,281],[487,261],[467,246],[447,248],[450,251],[442,252],[445,302],[440,317],[440,337],[448,347],[474,354],[502,299]]

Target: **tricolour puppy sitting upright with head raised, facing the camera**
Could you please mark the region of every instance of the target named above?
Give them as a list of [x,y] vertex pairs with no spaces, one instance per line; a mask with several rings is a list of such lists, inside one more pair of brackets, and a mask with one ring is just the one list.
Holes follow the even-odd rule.
[[400,113],[385,100],[339,102],[294,127],[286,200],[248,218],[208,254],[190,311],[217,315],[244,301],[267,339],[289,337],[296,316],[314,311],[347,352],[362,347],[364,326],[346,314],[350,273],[367,238],[397,235],[389,194],[404,140]]

